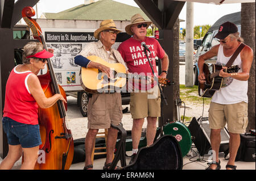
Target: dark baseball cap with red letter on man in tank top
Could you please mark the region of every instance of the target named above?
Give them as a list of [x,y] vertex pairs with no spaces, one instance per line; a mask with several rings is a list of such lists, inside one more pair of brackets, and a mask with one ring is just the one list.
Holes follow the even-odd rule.
[[225,22],[218,28],[218,33],[214,36],[217,39],[225,39],[229,34],[236,33],[238,31],[237,26],[231,22]]

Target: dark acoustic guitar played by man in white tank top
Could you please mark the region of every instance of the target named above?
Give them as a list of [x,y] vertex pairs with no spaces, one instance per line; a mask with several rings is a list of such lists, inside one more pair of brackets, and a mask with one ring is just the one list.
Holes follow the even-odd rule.
[[[199,83],[199,96],[211,98],[216,90],[220,90],[221,87],[226,87],[231,83],[229,82],[230,77],[223,78],[218,76],[221,69],[221,65],[204,64],[205,83]],[[237,74],[238,70],[240,70],[238,65],[232,65],[224,69],[226,73],[234,74]]]

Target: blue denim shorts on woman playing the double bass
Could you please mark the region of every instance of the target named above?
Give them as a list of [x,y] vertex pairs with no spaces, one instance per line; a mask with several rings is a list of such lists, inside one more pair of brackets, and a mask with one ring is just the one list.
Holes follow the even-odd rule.
[[23,124],[9,117],[3,117],[2,124],[9,145],[21,145],[22,148],[32,148],[42,144],[38,124]]

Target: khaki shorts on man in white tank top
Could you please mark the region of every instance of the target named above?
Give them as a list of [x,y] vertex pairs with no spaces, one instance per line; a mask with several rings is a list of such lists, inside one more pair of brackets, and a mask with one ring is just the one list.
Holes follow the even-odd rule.
[[210,129],[223,129],[228,125],[231,133],[245,133],[248,124],[247,103],[218,104],[211,102],[209,108]]

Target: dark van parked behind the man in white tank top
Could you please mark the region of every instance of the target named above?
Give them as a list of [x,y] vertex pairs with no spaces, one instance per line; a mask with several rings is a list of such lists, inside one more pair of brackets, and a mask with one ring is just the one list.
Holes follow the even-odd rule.
[[[205,34],[203,40],[196,40],[196,45],[199,46],[197,49],[197,53],[195,55],[195,64],[194,64],[194,85],[198,85],[198,75],[199,75],[199,68],[198,68],[198,59],[201,56],[201,54],[204,54],[208,52],[214,45],[220,44],[217,39],[214,38],[214,36],[218,32],[218,28],[222,23],[225,22],[232,22],[236,24],[238,27],[238,32],[241,32],[241,11],[240,12],[234,12],[232,14],[228,14],[225,16],[222,16],[220,19],[218,19],[212,27],[209,28],[208,32]],[[205,61],[208,64],[215,64],[217,60],[217,56],[210,58],[209,60]]]

